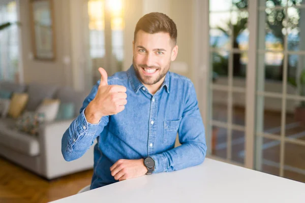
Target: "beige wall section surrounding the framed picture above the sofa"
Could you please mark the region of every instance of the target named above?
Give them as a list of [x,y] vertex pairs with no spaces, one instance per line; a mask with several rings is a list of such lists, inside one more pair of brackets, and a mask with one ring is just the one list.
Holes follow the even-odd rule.
[[69,1],[53,0],[56,36],[56,59],[54,61],[41,61],[30,58],[31,54],[33,55],[33,51],[29,2],[29,0],[20,1],[24,82],[72,86],[71,65],[64,63],[64,57],[70,57]]

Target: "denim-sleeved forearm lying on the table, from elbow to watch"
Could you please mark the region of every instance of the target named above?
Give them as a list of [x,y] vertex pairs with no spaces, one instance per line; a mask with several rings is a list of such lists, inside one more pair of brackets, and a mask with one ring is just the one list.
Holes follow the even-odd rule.
[[154,173],[171,172],[195,166],[204,161],[205,142],[188,142],[161,154],[153,155],[156,167]]

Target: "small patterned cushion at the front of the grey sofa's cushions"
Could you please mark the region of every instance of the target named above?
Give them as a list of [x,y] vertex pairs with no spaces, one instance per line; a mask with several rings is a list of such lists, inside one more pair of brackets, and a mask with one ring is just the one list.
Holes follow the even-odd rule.
[[43,123],[44,118],[43,113],[24,112],[24,114],[17,119],[16,127],[20,131],[37,136],[38,128],[40,124]]

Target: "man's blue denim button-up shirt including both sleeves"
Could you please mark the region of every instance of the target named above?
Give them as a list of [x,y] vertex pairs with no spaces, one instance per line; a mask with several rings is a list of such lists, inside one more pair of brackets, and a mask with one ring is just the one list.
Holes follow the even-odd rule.
[[[102,117],[98,124],[90,124],[84,110],[94,99],[99,84],[100,81],[85,98],[79,116],[62,139],[62,153],[67,161],[81,157],[97,139],[91,189],[117,182],[111,176],[110,166],[119,159],[150,156],[156,164],[154,173],[203,162],[205,131],[191,80],[168,72],[153,95],[138,80],[131,65],[127,72],[108,77],[109,85],[127,88],[125,110]],[[181,146],[174,148],[177,133]]]

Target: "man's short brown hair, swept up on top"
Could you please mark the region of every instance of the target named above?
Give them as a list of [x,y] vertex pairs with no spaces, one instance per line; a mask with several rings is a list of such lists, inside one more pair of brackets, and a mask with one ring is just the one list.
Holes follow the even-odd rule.
[[136,41],[136,35],[139,30],[154,34],[158,32],[169,33],[170,39],[174,45],[177,42],[177,27],[172,19],[163,13],[153,12],[144,15],[137,22],[134,32],[134,41]]

